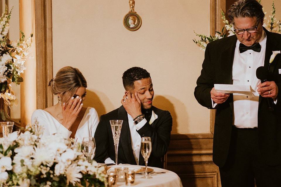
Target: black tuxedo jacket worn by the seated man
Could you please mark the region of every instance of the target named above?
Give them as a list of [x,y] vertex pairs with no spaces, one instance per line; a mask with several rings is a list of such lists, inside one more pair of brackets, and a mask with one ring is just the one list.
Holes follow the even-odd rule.
[[[148,159],[148,166],[162,167],[161,157],[168,150],[172,130],[172,116],[170,112],[152,106],[158,118],[152,123],[148,122],[138,130],[141,137],[149,136],[152,142],[152,151]],[[109,120],[123,120],[118,146],[118,163],[136,165],[131,146],[131,134],[128,115],[123,106],[100,117],[100,123],[95,131],[96,154],[94,159],[104,163],[107,157],[115,161],[114,142]],[[145,165],[140,153],[139,165]]]

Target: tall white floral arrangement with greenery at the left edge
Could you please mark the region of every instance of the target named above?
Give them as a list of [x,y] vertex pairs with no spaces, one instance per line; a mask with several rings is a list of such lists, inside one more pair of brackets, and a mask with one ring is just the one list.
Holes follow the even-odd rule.
[[18,103],[11,83],[20,84],[23,82],[20,73],[25,70],[24,62],[29,56],[28,49],[32,43],[32,34],[28,39],[25,39],[22,31],[20,31],[21,38],[19,40],[12,42],[8,39],[11,11],[8,12],[6,6],[5,12],[0,17],[0,114],[2,120],[9,117],[8,108]]

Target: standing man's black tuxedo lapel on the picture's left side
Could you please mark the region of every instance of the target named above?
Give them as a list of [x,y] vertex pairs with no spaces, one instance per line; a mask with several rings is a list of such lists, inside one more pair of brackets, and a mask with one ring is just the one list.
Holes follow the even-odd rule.
[[236,46],[237,37],[231,36],[229,40],[229,46],[222,52],[220,57],[220,65],[222,69],[222,84],[232,84],[232,65],[234,59],[234,52]]

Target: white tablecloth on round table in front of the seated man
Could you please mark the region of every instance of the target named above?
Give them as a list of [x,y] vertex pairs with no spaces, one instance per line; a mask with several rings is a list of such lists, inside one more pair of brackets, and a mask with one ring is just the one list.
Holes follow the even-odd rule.
[[[143,166],[138,165],[129,165],[129,164],[120,164],[118,166],[112,166],[114,167],[128,167],[129,169],[140,169]],[[134,187],[182,187],[181,179],[177,174],[174,172],[171,172],[166,169],[161,169],[158,167],[150,167],[153,168],[153,172],[166,172],[161,174],[151,173],[150,176],[152,176],[152,179],[143,179],[141,178],[143,175],[136,174]],[[117,187],[127,187],[125,182],[118,182]]]

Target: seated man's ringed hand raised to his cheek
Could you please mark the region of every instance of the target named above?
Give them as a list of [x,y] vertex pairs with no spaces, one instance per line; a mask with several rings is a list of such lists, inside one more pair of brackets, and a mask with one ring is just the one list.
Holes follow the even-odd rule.
[[138,98],[138,93],[131,94],[126,92],[121,100],[121,104],[124,106],[126,112],[135,119],[138,115],[141,115],[141,105],[140,99]]

